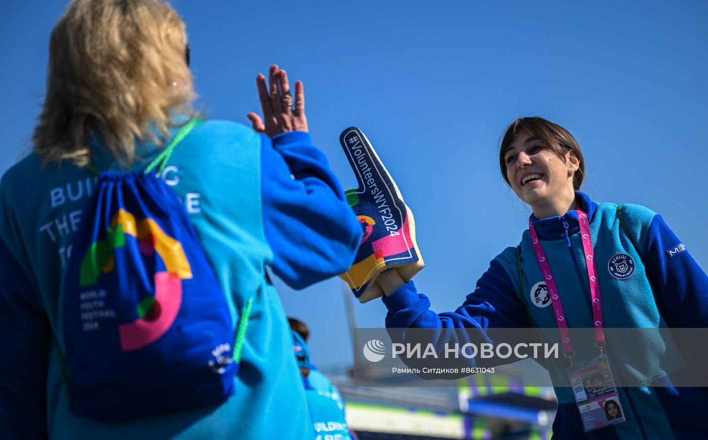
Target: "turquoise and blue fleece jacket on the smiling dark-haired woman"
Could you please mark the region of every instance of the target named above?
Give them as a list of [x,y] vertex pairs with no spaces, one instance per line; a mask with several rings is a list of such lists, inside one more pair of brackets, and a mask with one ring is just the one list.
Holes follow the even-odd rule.
[[[682,243],[660,215],[636,204],[624,205],[627,234],[620,225],[616,204],[596,204],[582,192],[576,192],[576,202],[590,218],[605,327],[708,327],[708,277],[687,250],[676,252]],[[540,220],[532,216],[532,224],[556,279],[569,327],[593,328],[577,212]],[[543,278],[528,230],[523,233],[520,248],[523,285],[517,249],[507,248],[491,261],[474,292],[454,312],[433,313],[428,297],[418,294],[413,282],[404,284],[383,299],[388,308],[387,328],[555,328],[553,308],[532,303],[532,286]],[[608,268],[610,259],[620,253],[634,262],[634,274],[626,279],[613,277]],[[677,342],[689,352],[704,344],[695,340]],[[597,354],[592,341],[573,345],[576,359]],[[637,340],[634,345],[635,351],[645,354],[644,365],[638,370],[661,374],[661,356],[668,354],[657,352],[651,341]],[[608,341],[608,354],[612,360],[612,341]],[[560,383],[566,374],[559,370],[556,364],[549,364],[554,383]],[[618,388],[627,422],[589,433],[583,429],[571,390],[556,387],[555,391],[558,408],[554,439],[670,440],[704,436],[700,412],[708,399],[708,388]]]

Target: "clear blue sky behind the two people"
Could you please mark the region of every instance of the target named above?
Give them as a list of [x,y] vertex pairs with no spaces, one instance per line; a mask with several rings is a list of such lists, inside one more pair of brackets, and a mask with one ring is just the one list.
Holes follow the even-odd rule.
[[[0,6],[0,173],[31,146],[48,37],[65,4]],[[586,156],[590,196],[661,213],[708,269],[708,2],[172,4],[188,23],[210,117],[247,123],[259,110],[255,76],[277,63],[304,81],[316,145],[345,187],[355,179],[338,136],[350,125],[367,134],[416,216],[427,264],[416,284],[435,311],[459,306],[526,228],[530,211],[496,158],[503,128],[520,115],[568,128]],[[286,313],[312,328],[313,361],[349,362],[341,282],[277,285]],[[383,326],[380,301],[355,313],[360,327]]]

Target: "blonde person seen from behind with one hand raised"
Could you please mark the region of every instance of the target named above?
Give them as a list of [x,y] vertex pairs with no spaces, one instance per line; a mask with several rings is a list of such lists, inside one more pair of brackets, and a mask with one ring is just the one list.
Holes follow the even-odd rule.
[[[96,178],[139,170],[196,115],[185,23],[162,0],[74,0],[50,40],[34,151],[0,183],[0,438],[307,439],[292,338],[266,267],[295,289],[344,272],[361,228],[307,133],[302,83],[258,75],[258,132],[207,120],[161,178],[183,203],[234,321],[253,298],[222,405],[106,424],[67,407],[57,360],[64,267]],[[270,93],[268,92],[270,89]],[[126,381],[130,378],[126,377]],[[189,383],[175,383],[175,393]],[[170,396],[164,396],[169,399]]]

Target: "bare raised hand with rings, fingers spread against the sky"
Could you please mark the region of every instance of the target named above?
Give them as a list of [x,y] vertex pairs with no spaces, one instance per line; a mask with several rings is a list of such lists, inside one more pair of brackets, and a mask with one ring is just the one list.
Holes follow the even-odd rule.
[[258,98],[261,100],[263,119],[258,113],[249,113],[246,117],[251,120],[253,129],[258,133],[265,133],[268,137],[285,132],[307,132],[307,118],[305,117],[305,93],[302,81],[295,81],[295,109],[292,108],[292,95],[287,73],[279,70],[273,64],[268,71],[270,92],[265,84],[265,76],[256,76]]

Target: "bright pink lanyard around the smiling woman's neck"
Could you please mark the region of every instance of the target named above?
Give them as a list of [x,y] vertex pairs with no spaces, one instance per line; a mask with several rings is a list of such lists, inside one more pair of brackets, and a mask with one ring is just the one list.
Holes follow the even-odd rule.
[[[593,251],[593,240],[590,238],[590,224],[588,223],[588,214],[583,212],[582,209],[577,209],[578,211],[578,222],[580,223],[580,231],[583,235],[583,251],[585,252],[587,266],[588,266],[588,280],[590,282],[590,296],[593,298],[593,320],[595,320],[595,347],[602,349],[605,346],[605,330],[603,330],[603,303],[600,299],[600,280],[598,279],[598,268],[595,265],[595,252]],[[529,219],[529,232],[531,234],[531,243],[533,243],[533,248],[536,253],[536,260],[538,260],[538,265],[543,274],[543,278],[546,281],[546,286],[548,288],[548,293],[551,294],[551,301],[553,303],[553,310],[556,313],[556,322],[558,323],[558,330],[561,334],[561,342],[563,343],[563,352],[565,356],[571,359],[575,356],[575,351],[573,350],[573,343],[571,342],[571,337],[568,332],[568,323],[566,322],[565,313],[563,311],[563,304],[561,304],[561,299],[558,296],[558,288],[556,287],[556,280],[551,272],[551,267],[548,264],[546,254],[543,252],[541,243],[538,239],[536,229],[531,224],[531,219]]]

